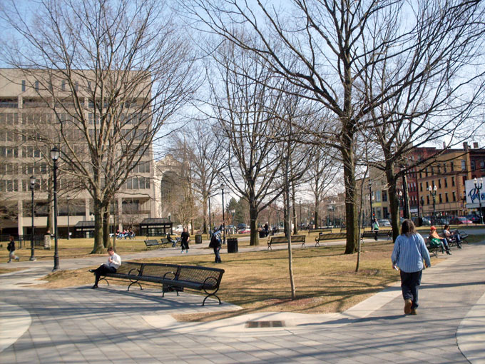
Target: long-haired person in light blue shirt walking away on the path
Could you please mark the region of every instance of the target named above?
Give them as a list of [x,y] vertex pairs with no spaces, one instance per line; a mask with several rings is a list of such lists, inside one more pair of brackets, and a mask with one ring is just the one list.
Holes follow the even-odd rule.
[[431,267],[423,237],[416,233],[414,223],[406,219],[401,225],[401,235],[394,242],[391,257],[392,268],[399,268],[401,271],[401,290],[406,315],[417,315],[418,287],[424,269],[423,259],[424,266]]

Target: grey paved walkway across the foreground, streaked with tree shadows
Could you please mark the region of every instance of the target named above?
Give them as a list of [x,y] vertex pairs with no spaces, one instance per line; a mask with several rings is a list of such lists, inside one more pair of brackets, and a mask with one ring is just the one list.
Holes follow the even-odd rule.
[[[1,275],[0,363],[485,363],[484,256],[485,243],[465,246],[424,271],[416,316],[402,314],[395,285],[341,314],[258,313],[213,323],[171,315],[238,307],[117,286],[35,288],[51,262],[19,263],[30,268]],[[104,259],[61,261],[61,268]],[[247,328],[248,321],[284,326]]]

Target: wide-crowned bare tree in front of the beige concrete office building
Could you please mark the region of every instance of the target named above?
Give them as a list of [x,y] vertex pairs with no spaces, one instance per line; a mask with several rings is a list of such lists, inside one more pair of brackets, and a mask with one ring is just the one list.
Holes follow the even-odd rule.
[[[15,1],[1,10],[20,39],[4,61],[55,115],[50,141],[61,146],[63,173],[78,178],[94,201],[99,253],[111,199],[135,166],[151,160],[163,123],[198,86],[189,43],[157,0],[46,0],[31,17]],[[70,143],[69,133],[79,143]]]

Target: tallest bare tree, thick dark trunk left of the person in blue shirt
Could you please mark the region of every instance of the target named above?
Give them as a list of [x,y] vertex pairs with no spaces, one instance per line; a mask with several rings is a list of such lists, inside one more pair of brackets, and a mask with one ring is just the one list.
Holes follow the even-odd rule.
[[[480,1],[456,0],[447,4],[446,9],[454,13],[460,12],[460,8],[465,11],[474,8],[469,12],[469,24],[483,29],[483,21],[479,19],[480,11],[484,13]],[[208,27],[213,33],[265,59],[275,74],[285,77],[301,90],[297,91],[300,96],[311,98],[332,113],[332,123],[317,133],[328,145],[337,148],[342,158],[346,253],[356,251],[359,238],[355,181],[355,147],[359,129],[366,125],[369,113],[394,97],[399,89],[422,79],[433,64],[426,66],[420,58],[407,59],[409,67],[395,74],[389,84],[369,95],[371,97],[363,97],[358,92],[362,89],[362,74],[369,67],[384,62],[399,67],[402,54],[412,54],[412,49],[422,49],[423,56],[429,54],[434,58],[441,44],[436,37],[431,41],[419,38],[422,29],[429,32],[447,29],[449,41],[454,40],[453,24],[449,23],[446,28],[440,26],[439,20],[429,21],[440,11],[446,14],[446,10],[440,7],[441,1],[433,0],[414,3],[394,0],[295,0],[280,8],[262,1],[185,2],[189,17],[202,21],[205,29]],[[428,16],[427,11],[432,15]],[[389,21],[392,14],[399,17],[399,22]],[[422,15],[424,18],[421,18]],[[253,29],[257,39],[240,37],[240,27]],[[377,31],[383,35],[382,38],[374,36]],[[383,45],[394,47],[394,53],[382,55]]]

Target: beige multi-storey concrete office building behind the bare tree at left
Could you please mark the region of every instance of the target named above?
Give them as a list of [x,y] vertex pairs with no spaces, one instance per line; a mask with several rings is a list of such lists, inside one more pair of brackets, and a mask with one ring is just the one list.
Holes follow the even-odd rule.
[[[96,113],[93,111],[94,102],[88,92],[91,81],[88,75],[91,71],[79,71],[86,74],[86,79],[80,76],[74,85],[71,85],[78,96],[83,108],[83,116],[89,121],[88,135],[96,133],[98,125]],[[31,190],[29,177],[36,177],[34,190],[34,226],[36,234],[45,233],[48,230],[47,216],[51,205],[52,191],[52,161],[49,151],[52,145],[46,145],[43,134],[55,133],[53,120],[60,125],[63,120],[73,123],[73,114],[69,108],[75,105],[69,104],[72,99],[68,97],[70,92],[63,79],[49,79],[43,71],[31,71],[30,77],[20,70],[0,69],[0,200],[4,206],[3,218],[0,219],[2,233],[14,233],[18,235],[29,234],[31,231]],[[39,76],[37,79],[36,75]],[[40,80],[40,81],[39,81]],[[48,86],[46,86],[46,82]],[[53,92],[60,95],[66,93],[63,105],[63,113],[56,108],[60,97],[49,98]],[[149,90],[147,91],[149,92]],[[140,97],[143,97],[141,95]],[[138,100],[133,99],[133,104],[122,106],[126,113],[136,107]],[[106,106],[103,106],[106,107]],[[76,122],[76,121],[74,121]],[[67,125],[67,123],[62,123]],[[128,123],[129,124],[129,123]],[[150,128],[150,121],[146,121]],[[115,133],[116,131],[111,131]],[[131,137],[133,132],[130,126],[118,131]],[[83,142],[81,131],[73,128],[64,131],[64,138],[58,138],[60,148],[71,147],[73,153],[87,153],[86,142]],[[68,138],[66,139],[66,136]],[[136,138],[136,136],[133,136]],[[84,139],[86,141],[86,138]],[[63,166],[68,171],[68,166]],[[123,188],[116,193],[116,202],[113,203],[111,225],[115,229],[115,220],[119,228],[123,226],[136,226],[143,218],[158,217],[158,203],[155,198],[155,183],[153,176],[153,151],[149,146],[148,153],[142,157],[141,163],[137,163],[131,176]],[[76,177],[69,173],[61,173],[58,177],[58,231],[59,236],[67,236],[67,231],[74,232],[74,226],[80,221],[93,221],[93,201],[88,191],[76,188]],[[86,224],[85,224],[86,225]]]

